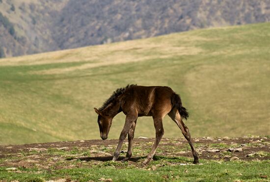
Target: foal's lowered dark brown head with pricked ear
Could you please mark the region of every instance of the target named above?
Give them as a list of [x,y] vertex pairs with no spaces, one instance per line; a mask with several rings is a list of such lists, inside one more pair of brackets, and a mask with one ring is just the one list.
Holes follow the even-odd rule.
[[112,118],[106,114],[104,114],[102,111],[98,110],[97,108],[94,108],[98,116],[98,124],[99,124],[99,131],[100,131],[100,137],[103,140],[106,140],[108,138],[109,129],[111,126]]

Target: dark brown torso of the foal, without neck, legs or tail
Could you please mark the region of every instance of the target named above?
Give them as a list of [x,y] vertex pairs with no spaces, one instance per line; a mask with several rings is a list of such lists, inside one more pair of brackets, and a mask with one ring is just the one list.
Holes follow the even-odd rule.
[[135,110],[138,116],[167,114],[172,109],[173,94],[167,86],[133,86],[123,94],[121,107],[125,114]]

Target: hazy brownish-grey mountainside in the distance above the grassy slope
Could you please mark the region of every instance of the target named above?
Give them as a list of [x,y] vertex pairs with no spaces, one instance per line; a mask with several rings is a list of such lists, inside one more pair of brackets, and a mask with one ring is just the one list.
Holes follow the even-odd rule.
[[[0,0],[0,57],[270,21],[270,0]],[[0,16],[1,17],[1,16]]]

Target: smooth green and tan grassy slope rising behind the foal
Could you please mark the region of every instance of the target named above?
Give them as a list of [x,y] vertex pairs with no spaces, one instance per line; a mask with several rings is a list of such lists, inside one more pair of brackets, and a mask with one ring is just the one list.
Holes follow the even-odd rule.
[[[269,135],[269,82],[269,23],[0,59],[0,144],[97,139],[93,107],[129,83],[179,93],[191,136]],[[163,125],[181,137],[168,117]],[[138,136],[155,136],[152,118],[138,119]]]

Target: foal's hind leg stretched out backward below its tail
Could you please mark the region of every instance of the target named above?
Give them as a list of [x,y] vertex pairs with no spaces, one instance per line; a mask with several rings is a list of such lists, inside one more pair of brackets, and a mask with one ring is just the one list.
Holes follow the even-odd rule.
[[185,138],[188,140],[191,151],[192,151],[192,155],[194,157],[194,161],[193,163],[199,163],[199,158],[198,158],[198,153],[196,152],[194,145],[191,141],[191,136],[189,133],[189,129],[188,127],[184,124],[184,122],[182,121],[182,118],[178,112],[178,110],[176,108],[173,108],[171,110],[171,112],[169,112],[168,114],[170,116],[170,118],[178,125],[178,127],[182,130],[183,135],[185,136]]

